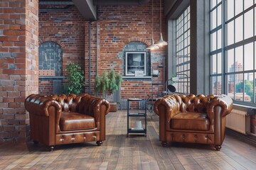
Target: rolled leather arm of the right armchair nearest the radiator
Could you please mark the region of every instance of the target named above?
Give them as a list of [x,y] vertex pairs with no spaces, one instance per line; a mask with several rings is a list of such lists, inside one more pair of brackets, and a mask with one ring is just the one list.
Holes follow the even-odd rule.
[[224,94],[215,96],[207,106],[207,114],[210,119],[214,119],[214,110],[216,106],[221,107],[221,117],[228,115],[233,109],[233,101],[229,96]]

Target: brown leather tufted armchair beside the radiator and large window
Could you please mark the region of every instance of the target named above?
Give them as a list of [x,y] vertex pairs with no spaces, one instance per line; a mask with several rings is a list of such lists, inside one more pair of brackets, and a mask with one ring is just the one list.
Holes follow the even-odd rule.
[[154,103],[159,115],[159,140],[215,145],[220,150],[225,137],[225,115],[233,109],[229,96],[171,94]]

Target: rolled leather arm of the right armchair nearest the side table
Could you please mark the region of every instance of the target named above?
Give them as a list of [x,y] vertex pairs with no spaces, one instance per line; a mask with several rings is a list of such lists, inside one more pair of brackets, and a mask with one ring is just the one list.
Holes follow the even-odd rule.
[[[165,109],[163,109],[163,107]],[[174,115],[176,115],[176,113],[179,113],[179,111],[179,103],[174,95],[164,96],[154,103],[154,113],[156,113],[156,115],[161,115],[163,113],[166,114],[168,122],[172,117],[174,117]]]

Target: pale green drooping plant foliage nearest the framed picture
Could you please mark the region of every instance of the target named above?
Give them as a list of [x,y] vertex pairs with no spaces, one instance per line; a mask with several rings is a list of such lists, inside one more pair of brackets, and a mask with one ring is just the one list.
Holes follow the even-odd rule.
[[105,71],[102,76],[98,74],[95,77],[95,94],[96,96],[101,92],[104,97],[107,97],[107,93],[114,93],[122,84],[122,75],[115,74],[114,69],[111,69],[109,73]]

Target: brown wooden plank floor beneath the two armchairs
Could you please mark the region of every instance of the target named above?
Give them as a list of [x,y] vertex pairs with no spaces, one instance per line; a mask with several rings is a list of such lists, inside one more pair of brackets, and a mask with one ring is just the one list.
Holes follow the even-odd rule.
[[159,118],[148,119],[147,136],[127,137],[126,111],[109,113],[107,140],[60,145],[48,152],[33,142],[0,145],[0,169],[256,169],[256,148],[226,135],[216,152],[207,145],[161,147]]

